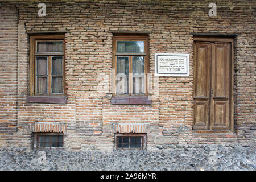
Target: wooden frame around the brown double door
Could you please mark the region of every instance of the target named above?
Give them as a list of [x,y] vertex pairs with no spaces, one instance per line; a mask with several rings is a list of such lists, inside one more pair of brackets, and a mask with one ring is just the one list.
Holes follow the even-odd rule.
[[[195,81],[196,73],[196,59],[195,59],[195,41],[201,42],[228,42],[230,43],[230,119],[229,119],[229,131],[234,131],[234,38],[223,37],[223,36],[193,36],[193,81]],[[211,69],[211,68],[210,68]],[[193,97],[195,97],[195,82],[193,82]],[[193,125],[195,119],[195,100],[193,100]],[[193,130],[193,131],[204,131],[204,133],[223,133],[223,130]],[[226,132],[226,131],[225,131]]]

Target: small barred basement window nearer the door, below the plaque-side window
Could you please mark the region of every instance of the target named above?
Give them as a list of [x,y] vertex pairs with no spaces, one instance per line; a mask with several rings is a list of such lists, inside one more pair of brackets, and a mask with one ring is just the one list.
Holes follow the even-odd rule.
[[143,149],[144,135],[117,135],[117,149]]

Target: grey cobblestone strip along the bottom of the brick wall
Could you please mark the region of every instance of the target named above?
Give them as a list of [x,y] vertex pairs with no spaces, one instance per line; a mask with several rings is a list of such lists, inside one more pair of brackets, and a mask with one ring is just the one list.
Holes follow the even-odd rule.
[[[162,148],[162,149],[160,149]],[[255,146],[166,145],[158,151],[113,152],[0,149],[0,170],[249,170],[255,171]]]

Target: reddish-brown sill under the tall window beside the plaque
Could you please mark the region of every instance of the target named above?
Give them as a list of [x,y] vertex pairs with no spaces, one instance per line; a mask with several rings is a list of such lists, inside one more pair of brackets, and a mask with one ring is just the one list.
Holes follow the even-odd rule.
[[114,96],[110,102],[111,104],[150,105],[151,99],[148,96]]

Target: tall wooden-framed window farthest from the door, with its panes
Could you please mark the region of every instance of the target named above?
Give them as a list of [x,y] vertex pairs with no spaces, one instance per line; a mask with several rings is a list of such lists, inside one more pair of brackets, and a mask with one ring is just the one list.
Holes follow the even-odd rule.
[[64,59],[64,34],[30,36],[30,96],[51,96],[51,102],[65,95]]

